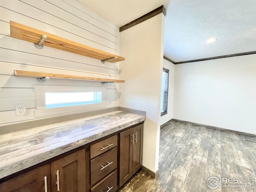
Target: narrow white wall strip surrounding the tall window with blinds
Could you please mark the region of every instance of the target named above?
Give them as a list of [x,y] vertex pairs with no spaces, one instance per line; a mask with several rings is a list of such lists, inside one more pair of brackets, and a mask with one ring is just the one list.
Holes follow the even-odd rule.
[[161,116],[160,125],[165,124],[173,118],[173,99],[174,99],[174,76],[175,76],[175,65],[164,59],[164,68],[169,70],[169,82],[168,82],[168,106],[167,114]]

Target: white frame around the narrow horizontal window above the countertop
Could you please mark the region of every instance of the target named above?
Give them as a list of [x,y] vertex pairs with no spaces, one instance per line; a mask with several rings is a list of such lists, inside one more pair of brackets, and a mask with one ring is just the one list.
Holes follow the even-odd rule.
[[[35,110],[36,117],[56,116],[61,114],[70,114],[70,113],[106,108],[106,87],[35,85],[34,92],[36,93],[36,110]],[[100,103],[46,108],[46,102],[45,102],[46,92],[102,92],[101,94],[102,100]]]

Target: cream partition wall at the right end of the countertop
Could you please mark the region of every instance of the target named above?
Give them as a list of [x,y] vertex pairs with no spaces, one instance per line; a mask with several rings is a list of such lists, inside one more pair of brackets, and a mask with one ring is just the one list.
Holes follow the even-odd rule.
[[120,32],[119,106],[146,111],[143,166],[156,172],[160,139],[164,15],[158,14]]

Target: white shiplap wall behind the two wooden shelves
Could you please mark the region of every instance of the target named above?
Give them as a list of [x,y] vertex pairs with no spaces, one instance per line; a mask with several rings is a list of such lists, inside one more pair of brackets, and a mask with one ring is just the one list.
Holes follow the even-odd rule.
[[[118,79],[118,64],[10,37],[10,20],[113,54],[119,54],[119,28],[74,0],[0,0],[0,126],[35,119],[34,85],[102,86],[100,82],[14,77],[14,70]],[[118,106],[117,85],[108,84],[110,104]],[[15,115],[26,104],[26,116]]]

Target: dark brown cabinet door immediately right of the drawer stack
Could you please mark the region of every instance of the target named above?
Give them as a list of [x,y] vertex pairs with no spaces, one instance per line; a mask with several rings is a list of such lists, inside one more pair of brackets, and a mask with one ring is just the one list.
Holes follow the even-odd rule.
[[[132,176],[133,128],[120,133],[120,180],[122,186]],[[133,141],[133,142],[132,142]]]

